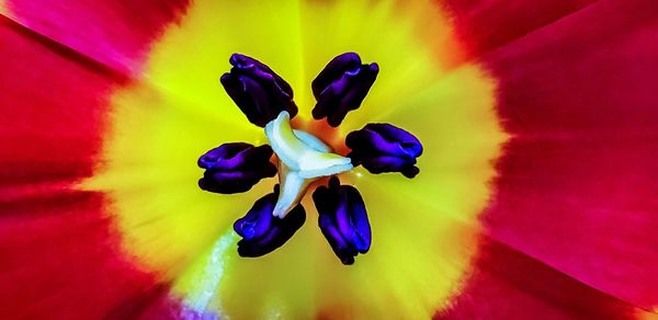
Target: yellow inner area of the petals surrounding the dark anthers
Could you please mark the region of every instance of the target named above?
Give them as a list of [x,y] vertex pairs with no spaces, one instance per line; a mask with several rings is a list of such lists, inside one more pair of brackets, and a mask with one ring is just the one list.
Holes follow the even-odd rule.
[[[444,14],[424,1],[196,1],[154,45],[145,81],[114,92],[103,160],[81,187],[110,195],[126,253],[173,282],[195,309],[235,319],[428,318],[468,272],[506,139],[494,114],[495,83],[475,64],[455,66],[461,50]],[[231,196],[195,186],[204,151],[265,141],[218,83],[228,57],[242,53],[272,67],[308,119],[310,81],[343,52],[383,71],[341,134],[368,122],[405,127],[423,141],[422,173],[407,181],[358,170],[347,178],[363,194],[374,230],[373,250],[354,266],[333,256],[309,201],[306,226],[284,248],[237,258],[226,244],[236,240],[231,224],[275,181]]]

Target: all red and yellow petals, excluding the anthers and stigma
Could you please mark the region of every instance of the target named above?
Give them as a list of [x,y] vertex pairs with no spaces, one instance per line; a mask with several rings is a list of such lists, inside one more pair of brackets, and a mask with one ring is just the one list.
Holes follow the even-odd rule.
[[[0,318],[655,318],[654,0],[194,2],[0,0]],[[353,267],[308,202],[237,258],[229,224],[274,181],[194,186],[201,152],[264,142],[228,55],[285,77],[306,126],[345,50],[383,72],[339,134],[405,127],[422,173],[345,176],[374,230]]]

